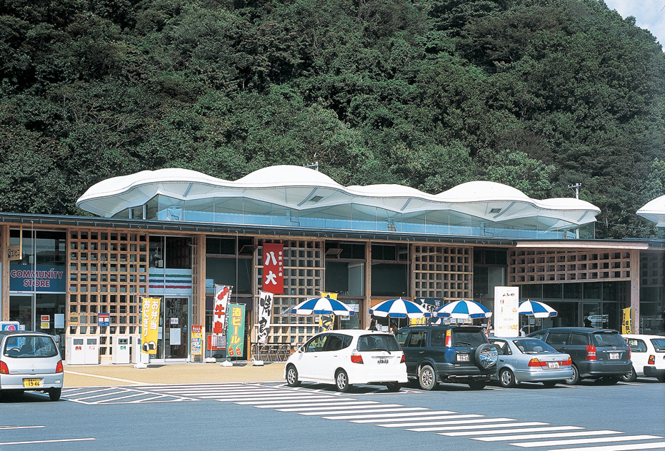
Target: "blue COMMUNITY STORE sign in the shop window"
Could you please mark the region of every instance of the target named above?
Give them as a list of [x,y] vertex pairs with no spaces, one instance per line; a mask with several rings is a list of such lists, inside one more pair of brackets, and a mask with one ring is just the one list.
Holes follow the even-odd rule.
[[65,293],[66,275],[64,265],[11,265],[9,290]]

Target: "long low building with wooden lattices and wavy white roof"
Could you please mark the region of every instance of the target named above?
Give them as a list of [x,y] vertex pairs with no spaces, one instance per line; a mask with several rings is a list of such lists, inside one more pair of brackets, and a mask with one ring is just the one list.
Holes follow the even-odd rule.
[[634,330],[663,330],[665,240],[596,240],[600,210],[576,198],[535,200],[486,181],[436,195],[341,186],[309,168],[272,166],[236,181],[143,171],[97,183],[77,205],[94,216],[0,213],[1,320],[59,335],[67,358],[96,338],[99,361],[114,361],[119,338],[136,343],[141,298],[151,297],[162,300],[153,360],[200,360],[191,326],[210,333],[215,284],[233,286],[232,302],[248,312],[246,341],[256,340],[266,243],[284,249],[274,344],[319,331],[316,317],[290,311],[323,292],[356,306],[340,327],[365,328],[382,300],[473,299],[493,309],[494,287],[506,285],[558,310],[541,327],[592,316],[619,328],[631,307]]

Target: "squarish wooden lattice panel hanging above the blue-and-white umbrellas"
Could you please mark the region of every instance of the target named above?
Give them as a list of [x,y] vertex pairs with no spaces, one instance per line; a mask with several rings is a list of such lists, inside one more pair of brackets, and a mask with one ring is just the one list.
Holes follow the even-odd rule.
[[413,286],[416,298],[473,298],[471,248],[414,245]]

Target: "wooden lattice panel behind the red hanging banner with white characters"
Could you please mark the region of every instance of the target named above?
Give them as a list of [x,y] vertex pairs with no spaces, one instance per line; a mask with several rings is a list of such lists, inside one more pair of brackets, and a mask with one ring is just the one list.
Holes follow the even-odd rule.
[[[270,343],[301,343],[319,332],[314,315],[291,315],[291,308],[319,296],[324,289],[325,260],[323,243],[313,240],[261,240],[284,244],[284,295],[273,299]],[[263,248],[256,252],[256,282],[262,287]],[[258,303],[258,296],[255,298]]]

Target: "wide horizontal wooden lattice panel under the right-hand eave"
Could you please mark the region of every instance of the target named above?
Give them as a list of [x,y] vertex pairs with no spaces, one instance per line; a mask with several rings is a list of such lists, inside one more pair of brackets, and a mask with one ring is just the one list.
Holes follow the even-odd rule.
[[511,250],[510,284],[631,280],[629,250]]

